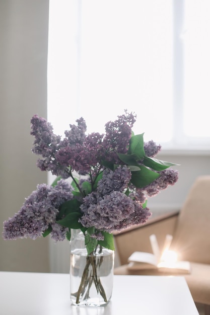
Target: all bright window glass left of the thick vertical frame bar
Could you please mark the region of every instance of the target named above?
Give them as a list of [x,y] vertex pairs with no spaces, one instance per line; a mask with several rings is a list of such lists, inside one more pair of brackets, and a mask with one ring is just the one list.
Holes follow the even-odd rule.
[[50,0],[48,119],[56,130],[83,116],[88,132],[102,133],[127,109],[137,115],[135,133],[169,141],[172,20],[168,0]]

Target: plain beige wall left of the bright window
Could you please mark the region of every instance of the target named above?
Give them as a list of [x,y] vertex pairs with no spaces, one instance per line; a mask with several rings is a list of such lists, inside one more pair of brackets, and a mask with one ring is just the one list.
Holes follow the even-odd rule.
[[31,152],[30,119],[47,116],[48,0],[0,0],[0,270],[49,270],[48,240],[4,241],[3,221],[47,182]]

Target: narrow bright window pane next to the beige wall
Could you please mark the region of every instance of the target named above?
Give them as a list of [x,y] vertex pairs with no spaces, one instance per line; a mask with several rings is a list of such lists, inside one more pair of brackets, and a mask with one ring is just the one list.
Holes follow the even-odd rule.
[[77,15],[74,2],[50,0],[47,118],[60,135],[79,118],[77,106]]

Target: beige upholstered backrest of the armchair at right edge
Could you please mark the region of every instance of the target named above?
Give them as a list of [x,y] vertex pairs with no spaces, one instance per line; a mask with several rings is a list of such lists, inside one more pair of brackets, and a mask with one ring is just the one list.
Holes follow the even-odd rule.
[[180,260],[210,263],[210,176],[198,177],[178,215],[172,249]]

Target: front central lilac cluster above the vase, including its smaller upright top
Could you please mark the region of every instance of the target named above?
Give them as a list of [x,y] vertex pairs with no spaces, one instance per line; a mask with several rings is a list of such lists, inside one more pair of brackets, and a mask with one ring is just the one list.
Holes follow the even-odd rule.
[[112,232],[126,228],[133,222],[146,222],[151,215],[149,209],[143,209],[139,202],[133,201],[123,192],[128,187],[130,178],[131,172],[126,166],[118,166],[115,171],[106,169],[98,182],[97,191],[83,200],[83,216],[80,219],[82,225]]

